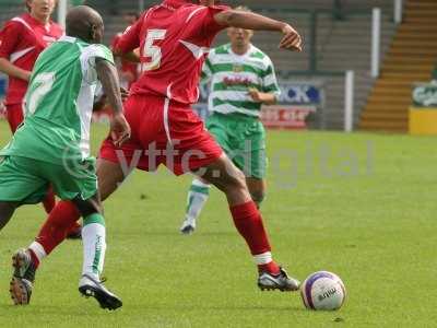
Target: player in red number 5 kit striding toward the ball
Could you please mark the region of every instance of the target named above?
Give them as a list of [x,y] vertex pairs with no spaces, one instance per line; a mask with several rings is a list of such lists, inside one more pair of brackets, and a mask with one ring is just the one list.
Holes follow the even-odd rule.
[[[199,97],[199,78],[208,50],[216,34],[228,26],[280,32],[280,48],[300,51],[300,36],[288,24],[216,7],[214,0],[201,0],[200,4],[165,0],[123,34],[115,51],[133,57],[130,51],[140,47],[143,73],[125,103],[132,138],[121,148],[107,139],[101,149],[97,175],[102,199],[109,197],[134,167],[154,171],[165,164],[176,175],[192,172],[226,195],[234,223],[258,265],[259,288],[296,291],[299,282],[272,259],[262,218],[244,174],[190,107]],[[27,249],[32,263],[23,265],[20,271],[33,272],[78,219],[72,203],[59,202]]]

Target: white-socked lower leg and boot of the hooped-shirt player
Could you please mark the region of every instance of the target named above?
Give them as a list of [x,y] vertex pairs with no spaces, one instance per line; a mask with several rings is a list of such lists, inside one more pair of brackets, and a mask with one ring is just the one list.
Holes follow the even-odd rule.
[[194,178],[191,183],[190,190],[187,196],[187,210],[185,219],[180,227],[180,232],[185,235],[192,234],[196,230],[196,221],[200,215],[206,200],[210,196],[211,185],[201,178]]

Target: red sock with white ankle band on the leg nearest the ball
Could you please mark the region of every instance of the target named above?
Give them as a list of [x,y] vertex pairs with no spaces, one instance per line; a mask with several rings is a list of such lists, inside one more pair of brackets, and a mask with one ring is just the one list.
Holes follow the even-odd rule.
[[262,224],[262,218],[253,201],[231,207],[231,213],[239,234],[246,239],[250,253],[260,271],[276,274],[279,266],[272,260],[269,238]]

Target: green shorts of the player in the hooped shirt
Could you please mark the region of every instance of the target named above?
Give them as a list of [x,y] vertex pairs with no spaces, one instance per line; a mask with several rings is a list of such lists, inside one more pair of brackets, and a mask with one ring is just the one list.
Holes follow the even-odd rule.
[[262,122],[243,114],[212,114],[206,128],[246,177],[265,177],[265,130]]

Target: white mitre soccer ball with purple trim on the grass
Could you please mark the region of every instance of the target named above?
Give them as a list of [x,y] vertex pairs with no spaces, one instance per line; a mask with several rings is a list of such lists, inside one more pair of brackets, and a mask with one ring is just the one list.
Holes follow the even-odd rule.
[[311,273],[300,285],[300,296],[309,309],[334,311],[342,307],[346,290],[336,274],[318,271]]

